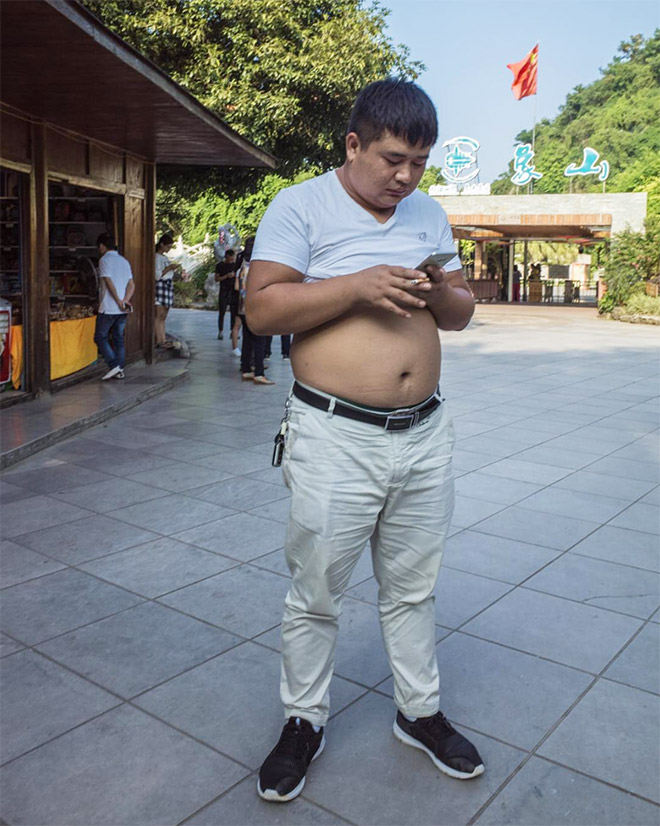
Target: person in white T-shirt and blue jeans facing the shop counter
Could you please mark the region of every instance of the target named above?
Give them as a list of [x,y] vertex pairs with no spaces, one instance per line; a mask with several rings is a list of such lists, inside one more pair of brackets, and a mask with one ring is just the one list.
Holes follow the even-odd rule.
[[109,232],[99,235],[96,245],[101,255],[101,303],[94,341],[108,365],[108,372],[101,376],[101,380],[123,379],[126,361],[124,333],[127,313],[133,309],[131,298],[135,292],[133,272],[128,261],[117,252],[115,239]]

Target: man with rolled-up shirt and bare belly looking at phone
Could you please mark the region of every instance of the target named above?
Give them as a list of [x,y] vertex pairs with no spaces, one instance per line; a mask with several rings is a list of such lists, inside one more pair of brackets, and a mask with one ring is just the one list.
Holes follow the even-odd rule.
[[[438,330],[463,329],[474,300],[447,216],[417,189],[436,139],[419,87],[370,84],[351,113],[344,165],[280,192],[257,232],[248,322],[257,334],[294,333],[296,379],[276,439],[293,579],[282,622],[286,724],[259,773],[265,800],[300,794],[325,745],[342,597],[367,541],[395,736],[451,777],[483,772],[439,711],[433,591],[454,506],[454,433],[438,388]],[[414,269],[434,252],[454,256]]]

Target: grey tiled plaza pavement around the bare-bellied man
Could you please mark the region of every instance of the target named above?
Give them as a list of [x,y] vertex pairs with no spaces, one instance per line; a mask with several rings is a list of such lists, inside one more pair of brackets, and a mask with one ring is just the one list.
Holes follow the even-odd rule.
[[291,371],[276,338],[276,386],[242,382],[214,313],[171,322],[188,382],[2,476],[1,822],[657,826],[657,328],[479,306],[443,334],[442,709],[486,772],[453,780],[393,737],[365,551],[327,747],[282,806],[255,785],[283,723],[270,459]]

